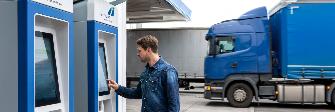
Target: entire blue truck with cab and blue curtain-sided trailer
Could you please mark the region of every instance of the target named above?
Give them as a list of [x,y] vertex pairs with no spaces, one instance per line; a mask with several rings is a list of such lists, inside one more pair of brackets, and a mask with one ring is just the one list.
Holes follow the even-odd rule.
[[290,0],[211,26],[204,97],[335,105],[335,2]]

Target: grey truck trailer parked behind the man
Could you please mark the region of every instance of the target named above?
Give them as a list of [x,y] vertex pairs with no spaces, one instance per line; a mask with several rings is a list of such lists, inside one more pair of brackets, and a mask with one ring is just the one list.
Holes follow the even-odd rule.
[[136,40],[145,35],[153,35],[159,41],[158,52],[178,71],[180,87],[188,87],[190,82],[204,83],[204,60],[207,41],[203,39],[208,28],[141,28],[127,31],[127,83],[138,81],[144,63],[136,55]]

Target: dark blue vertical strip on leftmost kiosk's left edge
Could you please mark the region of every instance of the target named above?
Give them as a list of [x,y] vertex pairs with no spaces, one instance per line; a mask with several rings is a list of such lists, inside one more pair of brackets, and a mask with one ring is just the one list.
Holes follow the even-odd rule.
[[[27,1],[21,0],[18,2],[18,111],[19,112],[33,112],[34,111],[34,100],[28,100],[28,90],[31,89],[32,83],[28,83],[28,73],[32,73],[32,71],[28,72],[28,38],[27,38]],[[31,45],[30,45],[30,49]],[[31,52],[31,51],[30,51]],[[31,78],[31,77],[30,77]],[[29,79],[31,80],[31,79]]]

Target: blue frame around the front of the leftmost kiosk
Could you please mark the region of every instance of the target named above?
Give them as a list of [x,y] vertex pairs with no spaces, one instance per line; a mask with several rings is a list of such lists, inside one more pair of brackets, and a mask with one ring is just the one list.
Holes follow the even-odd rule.
[[73,112],[73,16],[39,3],[18,1],[19,33],[19,112],[34,112],[34,15],[36,13],[68,21],[69,23],[69,110]]

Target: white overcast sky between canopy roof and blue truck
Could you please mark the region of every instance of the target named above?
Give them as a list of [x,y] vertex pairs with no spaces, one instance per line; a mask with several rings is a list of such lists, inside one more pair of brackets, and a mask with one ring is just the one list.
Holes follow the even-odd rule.
[[236,19],[257,7],[265,6],[269,11],[280,0],[182,0],[182,2],[192,10],[191,21],[144,23],[142,28],[210,27],[224,20]]

